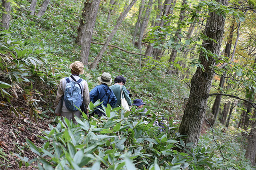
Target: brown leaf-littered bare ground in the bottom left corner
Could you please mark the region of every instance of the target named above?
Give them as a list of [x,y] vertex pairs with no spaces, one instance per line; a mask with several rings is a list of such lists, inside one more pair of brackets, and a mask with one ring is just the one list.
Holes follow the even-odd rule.
[[38,119],[38,122],[34,123],[30,121],[30,117],[17,117],[6,107],[0,111],[0,117],[0,169],[36,169],[33,164],[19,168],[20,158],[15,154],[25,156],[29,160],[35,158],[37,155],[30,150],[26,139],[36,146],[42,145],[43,141],[40,141],[37,135],[42,135],[42,131],[49,130],[50,121]]

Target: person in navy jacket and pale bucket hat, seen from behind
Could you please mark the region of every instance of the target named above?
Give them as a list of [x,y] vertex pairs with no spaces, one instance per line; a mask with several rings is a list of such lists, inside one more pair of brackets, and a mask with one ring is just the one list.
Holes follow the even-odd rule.
[[[108,87],[108,85],[112,83],[111,74],[109,74],[108,72],[104,72],[101,76],[98,77],[98,80],[101,82],[101,84],[94,87],[94,89],[90,91],[90,101],[92,103],[95,103],[97,100],[100,99],[100,102],[103,102],[102,104],[105,107],[108,107],[108,104],[113,107],[116,104],[117,100],[113,91]],[[102,109],[102,106],[99,105],[96,108]],[[105,113],[103,113],[99,109],[96,109],[92,113],[92,115],[94,114],[97,114],[99,117],[102,116],[102,114],[105,115]]]

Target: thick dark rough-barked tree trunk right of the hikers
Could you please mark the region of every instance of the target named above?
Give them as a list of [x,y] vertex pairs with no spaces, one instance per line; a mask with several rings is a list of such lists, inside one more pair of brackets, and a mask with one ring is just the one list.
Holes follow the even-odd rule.
[[[226,6],[228,0],[217,0],[217,2]],[[204,40],[202,44],[206,50],[218,55],[220,52],[222,35],[224,33],[225,18],[214,12],[211,12],[209,16],[210,17],[206,22],[204,35],[211,39],[215,39],[216,43],[207,39]],[[214,76],[214,70],[212,70],[212,67],[216,64],[213,57],[208,57],[207,60],[203,51],[200,52],[199,60],[204,66],[204,71],[202,68],[198,67],[196,69],[196,73],[191,79],[190,96],[179,128],[180,135],[188,136],[184,138],[185,142],[193,143],[194,145],[197,145],[198,143],[202,123],[205,118],[208,94],[210,92],[212,78]]]

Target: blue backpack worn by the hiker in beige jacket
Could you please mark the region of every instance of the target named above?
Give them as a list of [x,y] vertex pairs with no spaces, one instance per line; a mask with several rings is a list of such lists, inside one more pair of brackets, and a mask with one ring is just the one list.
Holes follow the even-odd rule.
[[[82,96],[82,88],[81,82],[83,81],[80,78],[78,81],[73,76],[70,76],[74,81],[70,81],[68,77],[66,77],[66,86],[64,92],[64,102],[69,111],[77,111],[76,107],[80,107],[83,102]],[[76,106],[76,107],[75,107]]]

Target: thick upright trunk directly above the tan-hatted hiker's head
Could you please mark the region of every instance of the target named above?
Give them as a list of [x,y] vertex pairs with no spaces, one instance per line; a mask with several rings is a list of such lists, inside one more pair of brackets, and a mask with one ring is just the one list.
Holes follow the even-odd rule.
[[76,37],[76,42],[81,44],[80,58],[81,62],[87,66],[88,57],[91,47],[92,34],[96,21],[96,16],[98,8],[100,5],[100,0],[85,1],[84,9],[82,10],[82,18],[80,20],[80,25],[78,27],[78,35]]

